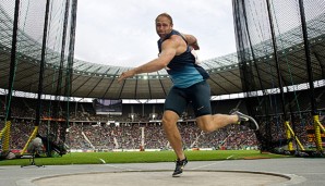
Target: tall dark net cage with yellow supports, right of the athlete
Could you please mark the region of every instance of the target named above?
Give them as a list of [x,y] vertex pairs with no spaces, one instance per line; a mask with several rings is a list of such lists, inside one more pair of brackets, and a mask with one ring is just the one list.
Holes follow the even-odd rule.
[[240,76],[262,150],[323,152],[324,0],[233,0]]

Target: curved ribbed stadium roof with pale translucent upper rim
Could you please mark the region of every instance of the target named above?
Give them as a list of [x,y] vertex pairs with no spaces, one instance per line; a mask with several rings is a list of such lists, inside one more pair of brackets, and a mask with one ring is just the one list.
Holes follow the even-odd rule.
[[[313,20],[310,23],[309,34],[312,53],[312,66],[314,69],[314,80],[324,79],[324,51],[325,51],[325,26],[324,17]],[[11,59],[11,38],[12,38],[12,21],[0,11],[0,88],[8,89],[8,79],[10,75],[10,59]],[[292,40],[301,40],[298,34],[299,28],[291,29],[282,34],[282,53],[289,61],[292,61],[290,71],[281,69],[285,85],[290,83],[296,85],[306,83],[304,61],[304,47],[301,41],[292,44]],[[297,39],[294,39],[297,37]],[[299,37],[299,39],[298,39]],[[286,41],[290,38],[290,42]],[[292,39],[293,38],[293,39]],[[268,45],[270,40],[263,41],[254,46],[260,48],[255,55],[258,58],[255,63],[261,63],[261,80],[267,82],[264,88],[277,87],[277,82],[269,78],[268,60],[274,60],[273,53],[265,53],[272,51],[272,46]],[[41,45],[26,35],[24,32],[19,32],[19,54],[17,65],[15,72],[14,90],[37,92],[39,78],[39,62]],[[261,51],[261,52],[258,52]],[[316,54],[315,54],[316,53]],[[262,63],[263,62],[263,63]],[[58,70],[60,64],[60,53],[47,49],[46,65],[44,74],[44,90],[45,95],[56,95],[56,87],[58,82]],[[67,60],[64,61],[67,64]],[[202,66],[207,70],[210,75],[208,83],[212,87],[212,95],[229,95],[242,92],[242,84],[240,79],[240,71],[238,65],[237,53],[205,60]],[[139,74],[133,78],[118,84],[119,75],[131,67],[110,66],[91,63],[74,59],[73,75],[71,78],[71,97],[82,98],[107,98],[107,99],[164,99],[172,86],[171,80],[165,70],[155,73]],[[274,70],[273,72],[276,72]],[[267,77],[267,78],[266,78]],[[273,75],[274,78],[276,74]],[[64,84],[64,80],[63,80]],[[64,88],[64,87],[63,87]],[[261,88],[261,87],[260,87]]]

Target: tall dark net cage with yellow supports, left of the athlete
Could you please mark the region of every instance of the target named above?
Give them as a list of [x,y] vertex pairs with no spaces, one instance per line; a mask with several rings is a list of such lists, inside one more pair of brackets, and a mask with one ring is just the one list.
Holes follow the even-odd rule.
[[75,15],[76,0],[0,1],[2,154],[12,145],[24,154],[35,137],[47,156],[64,153]]

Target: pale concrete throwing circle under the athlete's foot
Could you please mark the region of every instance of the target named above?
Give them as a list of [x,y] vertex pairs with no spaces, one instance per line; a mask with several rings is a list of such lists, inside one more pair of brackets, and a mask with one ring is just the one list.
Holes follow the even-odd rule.
[[186,170],[181,177],[171,177],[171,171],[125,171],[70,174],[34,179],[37,186],[189,186],[189,185],[272,185],[284,184],[290,177],[260,172],[244,171],[191,171]]

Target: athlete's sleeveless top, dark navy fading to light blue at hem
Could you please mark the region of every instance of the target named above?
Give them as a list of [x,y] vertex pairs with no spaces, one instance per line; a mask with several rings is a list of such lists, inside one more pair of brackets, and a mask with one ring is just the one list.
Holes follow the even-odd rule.
[[[162,40],[158,40],[159,53],[161,52],[162,42],[172,35],[181,36],[185,40],[185,38],[179,32],[173,29]],[[186,40],[185,42],[188,44]],[[180,55],[174,55],[167,67],[167,73],[171,77],[173,86],[178,88],[188,88],[209,77],[207,72],[202,66],[195,64],[195,57],[191,53],[189,46],[186,51]]]

